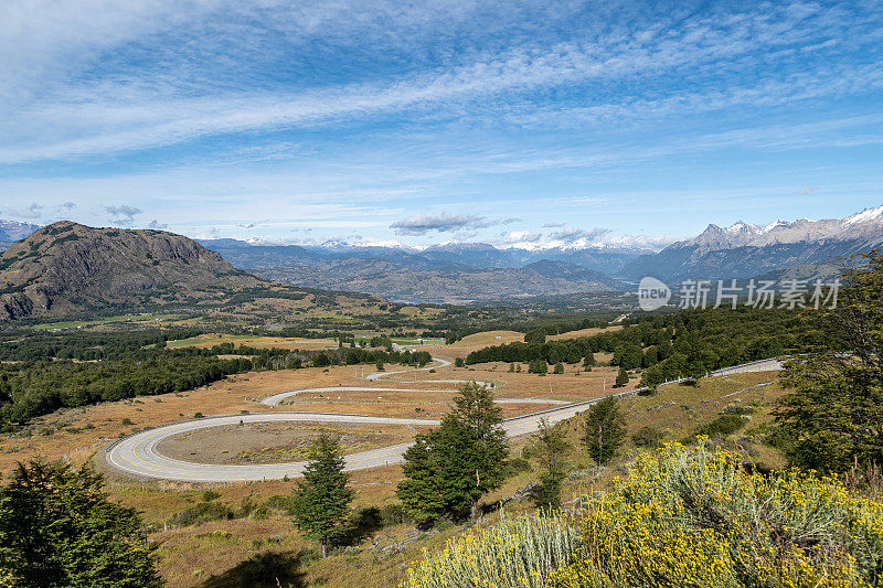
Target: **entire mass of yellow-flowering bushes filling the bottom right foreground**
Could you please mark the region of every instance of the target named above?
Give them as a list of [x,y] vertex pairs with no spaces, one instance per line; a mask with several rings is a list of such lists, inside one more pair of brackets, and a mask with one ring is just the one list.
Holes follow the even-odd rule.
[[703,447],[643,453],[627,478],[588,501],[573,527],[568,521],[535,515],[470,533],[427,555],[403,586],[845,588],[883,580],[883,502],[837,478],[746,472],[738,456]]

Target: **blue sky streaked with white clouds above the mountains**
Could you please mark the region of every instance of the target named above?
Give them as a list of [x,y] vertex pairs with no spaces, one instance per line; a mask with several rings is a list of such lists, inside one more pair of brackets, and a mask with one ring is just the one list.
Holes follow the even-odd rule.
[[862,0],[7,0],[0,216],[656,247],[845,216],[883,204],[881,47]]

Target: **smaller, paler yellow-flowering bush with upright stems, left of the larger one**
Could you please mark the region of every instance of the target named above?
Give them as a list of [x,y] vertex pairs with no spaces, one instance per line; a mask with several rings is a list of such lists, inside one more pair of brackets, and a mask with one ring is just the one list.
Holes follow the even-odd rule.
[[503,520],[448,542],[440,553],[424,550],[407,570],[403,588],[544,588],[552,570],[575,553],[576,531],[562,515]]

